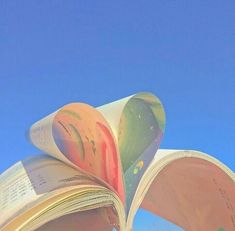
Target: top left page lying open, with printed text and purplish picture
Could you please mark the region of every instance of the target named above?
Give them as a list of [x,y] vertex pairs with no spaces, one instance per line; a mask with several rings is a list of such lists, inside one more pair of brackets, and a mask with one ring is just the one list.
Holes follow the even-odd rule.
[[0,176],[0,227],[48,193],[75,185],[102,183],[49,156],[18,162]]

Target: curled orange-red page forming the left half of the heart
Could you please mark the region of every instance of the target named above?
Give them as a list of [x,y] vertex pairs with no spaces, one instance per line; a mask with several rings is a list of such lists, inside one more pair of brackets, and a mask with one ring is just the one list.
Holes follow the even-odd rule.
[[125,203],[117,144],[96,109],[82,103],[65,105],[35,123],[29,136],[41,150],[106,182]]

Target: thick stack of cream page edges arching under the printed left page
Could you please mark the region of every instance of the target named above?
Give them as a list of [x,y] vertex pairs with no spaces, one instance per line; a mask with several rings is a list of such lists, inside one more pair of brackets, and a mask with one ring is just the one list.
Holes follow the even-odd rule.
[[[86,193],[88,192],[88,193]],[[96,193],[100,194],[100,197],[97,198],[97,196],[93,196],[91,198],[91,195],[95,195]],[[88,195],[85,195],[88,194]],[[9,231],[9,230],[32,230],[32,223],[34,223],[35,219],[39,218],[41,214],[43,215],[45,211],[52,211],[52,208],[56,204],[60,206],[61,202],[64,200],[70,201],[71,198],[74,198],[74,196],[80,195],[82,197],[82,201],[87,201],[86,204],[84,203],[74,203],[77,206],[77,211],[89,211],[96,208],[102,208],[110,206],[113,209],[115,209],[115,212],[117,213],[118,218],[118,226],[120,228],[120,231],[125,230],[125,220],[123,219],[125,217],[125,212],[123,210],[122,202],[120,201],[119,197],[108,190],[107,188],[104,188],[102,186],[96,186],[89,188],[89,185],[84,185],[84,187],[77,188],[76,186],[71,186],[66,189],[61,189],[60,191],[52,192],[50,195],[45,197],[43,200],[35,201],[35,204],[33,204],[32,207],[27,208],[23,213],[19,214],[17,217],[15,217],[11,222],[7,223],[3,227],[1,227],[2,231]],[[107,200],[108,197],[108,200]],[[74,213],[75,210],[72,210],[69,213]],[[61,216],[61,214],[55,214],[58,218]],[[63,214],[62,214],[63,215]],[[64,214],[65,215],[65,214]],[[52,219],[52,220],[53,220]],[[46,219],[45,219],[46,220]],[[47,221],[50,221],[51,219],[48,219],[45,221],[43,219],[43,223],[40,223],[40,225],[36,224],[38,227],[42,224],[46,223]],[[32,223],[31,223],[32,222]],[[35,225],[35,224],[34,224]],[[37,227],[34,227],[37,228]],[[34,229],[33,229],[34,230]]]

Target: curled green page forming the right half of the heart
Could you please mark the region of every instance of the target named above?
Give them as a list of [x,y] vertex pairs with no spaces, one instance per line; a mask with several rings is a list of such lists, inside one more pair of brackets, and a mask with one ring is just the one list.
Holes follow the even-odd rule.
[[140,179],[163,136],[163,106],[154,95],[143,92],[97,109],[109,121],[118,140],[128,212]]

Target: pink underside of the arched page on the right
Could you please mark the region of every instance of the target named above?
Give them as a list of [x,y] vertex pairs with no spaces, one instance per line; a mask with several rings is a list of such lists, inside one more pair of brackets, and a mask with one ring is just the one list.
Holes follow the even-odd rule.
[[141,207],[185,230],[235,230],[234,181],[199,158],[182,158],[166,166]]

